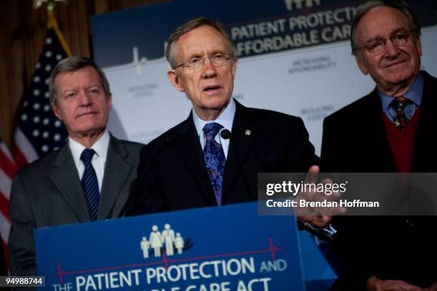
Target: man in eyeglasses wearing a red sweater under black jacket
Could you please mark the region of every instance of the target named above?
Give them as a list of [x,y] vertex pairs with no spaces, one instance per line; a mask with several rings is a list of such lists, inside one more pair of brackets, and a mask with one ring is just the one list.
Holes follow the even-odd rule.
[[[372,0],[358,9],[352,51],[376,88],[325,119],[323,170],[436,172],[429,138],[437,79],[420,71],[420,36],[403,1]],[[332,224],[333,247],[353,266],[344,290],[437,290],[435,217],[343,217]]]

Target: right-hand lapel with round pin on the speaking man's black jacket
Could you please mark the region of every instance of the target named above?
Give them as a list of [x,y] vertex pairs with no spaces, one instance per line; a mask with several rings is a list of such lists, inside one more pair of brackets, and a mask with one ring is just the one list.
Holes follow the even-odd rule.
[[[241,172],[244,160],[256,136],[256,129],[251,125],[251,118],[247,115],[246,108],[236,103],[236,112],[233,118],[231,141],[226,158],[226,168],[223,177],[223,193],[226,195],[231,181]],[[243,173],[239,173],[243,175]]]

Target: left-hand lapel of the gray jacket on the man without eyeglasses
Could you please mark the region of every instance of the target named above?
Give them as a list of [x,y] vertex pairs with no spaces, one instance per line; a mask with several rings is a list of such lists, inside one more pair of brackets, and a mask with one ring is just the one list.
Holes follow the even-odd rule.
[[81,223],[90,221],[84,190],[68,145],[59,154],[50,169],[50,178]]

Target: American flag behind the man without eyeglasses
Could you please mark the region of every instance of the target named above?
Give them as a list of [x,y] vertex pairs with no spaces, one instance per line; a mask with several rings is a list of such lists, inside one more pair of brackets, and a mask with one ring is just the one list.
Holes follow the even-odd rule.
[[66,128],[54,116],[50,107],[49,76],[54,66],[70,55],[56,19],[53,14],[49,14],[46,41],[35,66],[29,93],[23,103],[12,155],[0,141],[0,230],[4,243],[8,241],[11,228],[9,192],[15,171],[66,143]]

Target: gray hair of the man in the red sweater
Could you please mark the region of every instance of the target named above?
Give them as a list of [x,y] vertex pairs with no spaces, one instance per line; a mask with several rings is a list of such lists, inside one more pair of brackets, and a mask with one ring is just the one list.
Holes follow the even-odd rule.
[[367,1],[365,4],[361,5],[353,18],[352,26],[351,26],[351,49],[353,55],[361,56],[359,54],[359,48],[356,41],[356,27],[358,26],[358,23],[361,21],[364,15],[368,13],[368,11],[371,11],[373,8],[378,6],[388,6],[394,9],[397,9],[398,11],[401,11],[403,15],[406,16],[408,20],[408,25],[410,26],[411,33],[413,34],[415,39],[418,39],[421,37],[421,24],[419,24],[416,16],[414,16],[413,12],[411,11],[408,4],[406,4],[405,1],[395,1],[395,0],[370,0]]

